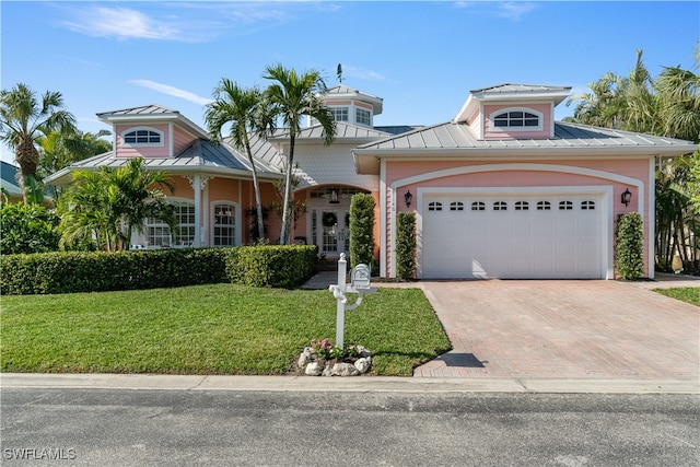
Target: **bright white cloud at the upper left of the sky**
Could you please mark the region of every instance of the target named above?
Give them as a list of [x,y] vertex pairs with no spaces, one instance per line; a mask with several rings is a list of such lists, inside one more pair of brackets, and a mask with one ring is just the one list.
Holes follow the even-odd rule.
[[183,39],[182,31],[175,23],[155,21],[128,8],[96,7],[75,10],[74,14],[72,21],[63,24],[71,31],[93,37]]

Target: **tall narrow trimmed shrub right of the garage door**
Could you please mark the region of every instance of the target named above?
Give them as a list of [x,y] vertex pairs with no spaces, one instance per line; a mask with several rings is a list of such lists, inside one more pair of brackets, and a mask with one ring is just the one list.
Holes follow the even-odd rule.
[[615,264],[625,280],[635,280],[644,273],[644,233],[638,212],[620,214],[617,219]]

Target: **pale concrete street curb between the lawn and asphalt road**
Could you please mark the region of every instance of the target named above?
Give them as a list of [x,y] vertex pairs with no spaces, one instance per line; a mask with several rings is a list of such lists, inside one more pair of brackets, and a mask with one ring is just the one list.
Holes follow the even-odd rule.
[[2,373],[0,374],[0,388],[700,395],[700,382],[674,380],[208,376],[104,373]]

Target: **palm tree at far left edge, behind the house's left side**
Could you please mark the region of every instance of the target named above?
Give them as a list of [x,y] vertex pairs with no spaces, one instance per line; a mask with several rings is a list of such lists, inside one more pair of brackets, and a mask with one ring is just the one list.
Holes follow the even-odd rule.
[[[23,187],[37,185],[39,153],[35,147],[36,139],[54,129],[74,127],[75,118],[62,106],[60,93],[47,91],[39,102],[36,94],[23,83],[10,91],[0,91],[0,139],[14,151]],[[27,202],[26,188],[23,191],[24,202]],[[36,191],[33,195],[35,200],[39,198]]]

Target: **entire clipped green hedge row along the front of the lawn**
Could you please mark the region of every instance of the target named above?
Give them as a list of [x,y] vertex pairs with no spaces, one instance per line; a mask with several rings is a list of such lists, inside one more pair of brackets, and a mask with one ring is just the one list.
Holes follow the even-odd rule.
[[246,285],[288,288],[313,275],[315,248],[244,246],[3,255],[0,257],[0,293],[103,292],[226,280]]

